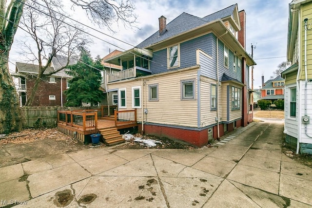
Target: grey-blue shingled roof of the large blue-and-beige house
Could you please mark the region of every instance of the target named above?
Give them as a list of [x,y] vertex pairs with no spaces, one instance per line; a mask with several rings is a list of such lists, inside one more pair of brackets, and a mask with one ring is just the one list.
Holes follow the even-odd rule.
[[208,15],[204,18],[198,18],[193,15],[183,12],[176,19],[172,20],[166,25],[166,32],[159,36],[159,30],[149,38],[137,45],[137,48],[147,48],[157,42],[163,41],[168,38],[175,37],[179,34],[192,30],[201,25],[207,24],[216,19],[222,19],[233,15],[236,4],[222,9],[214,14]]

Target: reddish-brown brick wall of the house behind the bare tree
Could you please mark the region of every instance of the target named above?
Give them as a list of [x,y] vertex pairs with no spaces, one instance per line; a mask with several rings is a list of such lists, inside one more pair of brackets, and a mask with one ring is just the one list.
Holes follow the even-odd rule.
[[[61,106],[60,78],[55,78],[56,83],[50,83],[48,80],[50,80],[49,77],[41,80],[39,83],[38,90],[31,106]],[[35,76],[27,76],[27,98],[35,85],[35,81]],[[66,79],[64,78],[62,79],[62,89],[63,92],[66,90]],[[49,95],[55,95],[55,100],[49,100]],[[65,104],[65,102],[66,96],[63,94],[63,104]]]

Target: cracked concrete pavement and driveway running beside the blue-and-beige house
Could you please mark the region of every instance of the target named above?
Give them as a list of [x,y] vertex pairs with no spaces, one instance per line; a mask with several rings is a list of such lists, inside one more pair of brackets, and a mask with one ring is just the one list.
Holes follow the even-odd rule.
[[0,207],[312,207],[312,169],[281,152],[282,132],[254,122],[212,148],[93,148],[0,168]]

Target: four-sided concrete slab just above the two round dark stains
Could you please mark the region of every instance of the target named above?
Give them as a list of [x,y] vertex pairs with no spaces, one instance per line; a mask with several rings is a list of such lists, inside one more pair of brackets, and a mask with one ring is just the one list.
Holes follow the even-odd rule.
[[59,189],[76,181],[90,177],[91,174],[77,163],[45,170],[29,175],[29,189],[32,197]]

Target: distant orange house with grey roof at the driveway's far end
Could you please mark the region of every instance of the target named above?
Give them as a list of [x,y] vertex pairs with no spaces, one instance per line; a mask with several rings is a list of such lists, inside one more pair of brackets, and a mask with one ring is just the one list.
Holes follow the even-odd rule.
[[262,83],[261,99],[270,100],[274,103],[275,100],[284,100],[284,82],[281,76],[276,76],[274,79],[269,79]]

